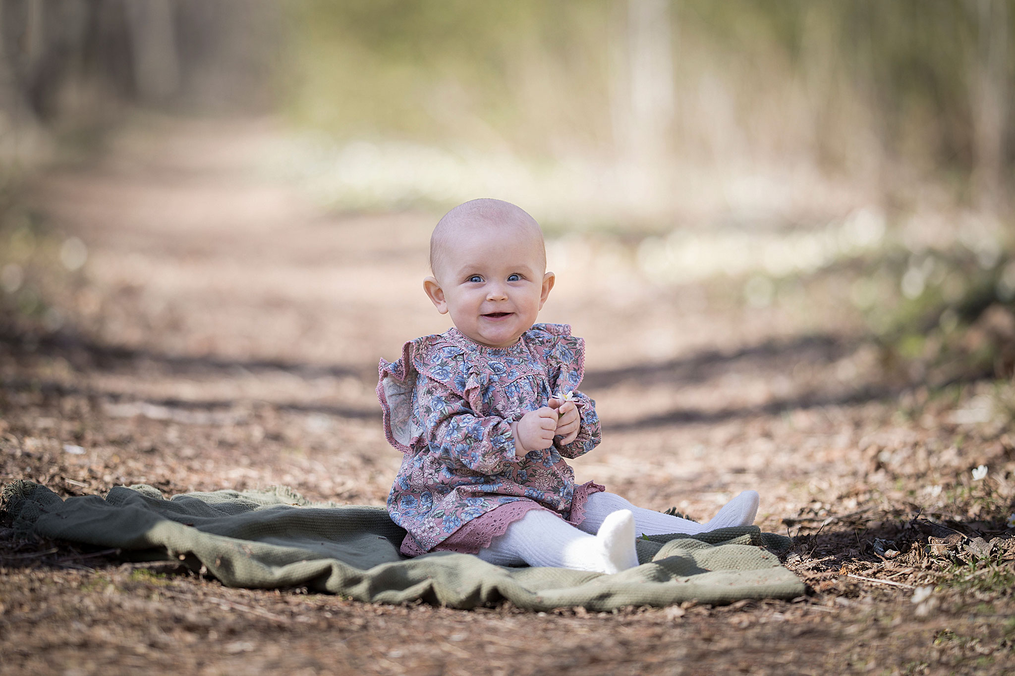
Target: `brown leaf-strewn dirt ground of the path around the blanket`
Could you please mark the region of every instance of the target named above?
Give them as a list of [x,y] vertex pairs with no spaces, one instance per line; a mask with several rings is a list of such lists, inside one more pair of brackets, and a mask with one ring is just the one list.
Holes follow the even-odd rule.
[[[148,121],[29,182],[0,228],[0,482],[384,503],[399,454],[376,366],[448,327],[420,285],[435,215],[326,213],[279,177],[278,139],[266,121]],[[1011,383],[898,377],[848,269],[751,308],[742,281],[658,283],[632,251],[607,235],[549,246],[540,318],[587,339],[583,390],[604,424],[579,480],[697,519],[757,490],[807,596],[599,614],[365,605],[0,530],[0,672],[1015,669],[1015,434],[997,415]]]

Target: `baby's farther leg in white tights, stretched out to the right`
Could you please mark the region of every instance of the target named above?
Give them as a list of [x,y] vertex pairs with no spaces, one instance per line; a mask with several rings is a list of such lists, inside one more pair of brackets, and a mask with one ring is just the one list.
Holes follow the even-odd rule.
[[594,493],[589,496],[589,501],[585,504],[585,521],[579,528],[591,533],[599,528],[604,519],[617,510],[629,510],[634,515],[635,531],[638,534],[687,533],[693,535],[717,528],[751,525],[754,523],[754,517],[758,511],[758,494],[756,491],[744,491],[728,502],[708,523],[695,523],[662,512],[635,507],[612,493]]

